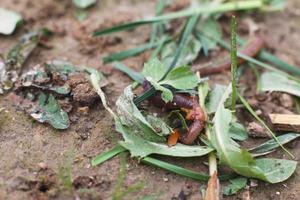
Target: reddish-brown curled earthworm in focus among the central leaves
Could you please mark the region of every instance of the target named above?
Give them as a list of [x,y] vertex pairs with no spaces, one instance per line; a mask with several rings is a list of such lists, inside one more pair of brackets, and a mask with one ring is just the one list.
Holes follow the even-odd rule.
[[[144,81],[144,90],[149,89],[149,87],[150,83],[148,81]],[[183,144],[192,144],[197,139],[200,132],[204,128],[206,117],[204,111],[194,97],[188,96],[186,94],[174,94],[173,100],[171,102],[165,103],[159,93],[151,97],[149,100],[150,103],[158,107],[166,108],[169,110],[180,108],[182,111],[186,112],[185,118],[192,121],[192,123],[188,127],[187,133],[182,134],[179,140]]]

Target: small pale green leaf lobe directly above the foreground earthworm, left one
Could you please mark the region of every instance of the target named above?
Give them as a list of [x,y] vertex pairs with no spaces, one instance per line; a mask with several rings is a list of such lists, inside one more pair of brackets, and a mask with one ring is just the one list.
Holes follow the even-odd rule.
[[144,64],[142,74],[148,78],[151,77],[153,81],[158,82],[167,71],[167,67],[157,58],[153,58]]

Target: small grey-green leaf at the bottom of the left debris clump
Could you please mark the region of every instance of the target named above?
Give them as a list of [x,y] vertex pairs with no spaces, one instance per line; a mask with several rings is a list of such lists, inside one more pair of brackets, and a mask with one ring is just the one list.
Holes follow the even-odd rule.
[[66,129],[70,125],[68,114],[61,109],[51,94],[47,100],[46,95],[41,93],[38,106],[30,115],[35,120],[41,123],[46,122],[56,129]]

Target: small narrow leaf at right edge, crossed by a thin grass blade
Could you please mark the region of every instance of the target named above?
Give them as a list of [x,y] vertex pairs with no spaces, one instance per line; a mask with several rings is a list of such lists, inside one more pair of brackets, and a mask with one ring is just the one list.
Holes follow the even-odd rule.
[[[300,134],[286,133],[284,135],[278,136],[277,139],[281,145],[284,145],[298,137],[300,137]],[[260,155],[260,154],[264,155],[265,153],[269,153],[278,147],[280,147],[279,144],[274,139],[270,139],[267,142],[258,145],[257,147],[251,148],[250,152],[254,155]]]

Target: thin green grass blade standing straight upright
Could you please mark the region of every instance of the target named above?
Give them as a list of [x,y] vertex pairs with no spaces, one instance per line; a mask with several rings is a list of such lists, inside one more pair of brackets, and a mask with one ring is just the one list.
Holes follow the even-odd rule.
[[236,47],[236,27],[237,22],[235,16],[231,17],[231,82],[232,82],[232,94],[231,94],[231,110],[235,112],[236,98],[237,98],[237,47]]

